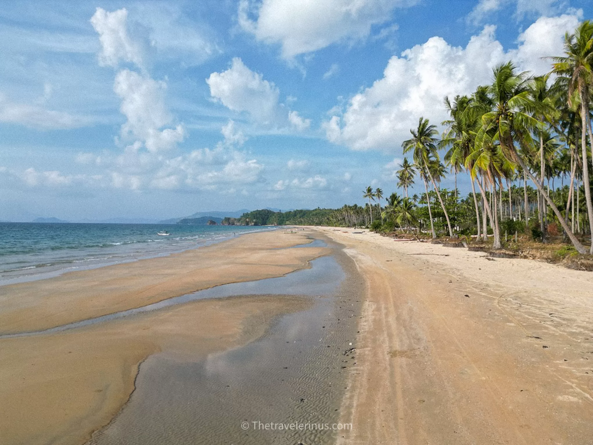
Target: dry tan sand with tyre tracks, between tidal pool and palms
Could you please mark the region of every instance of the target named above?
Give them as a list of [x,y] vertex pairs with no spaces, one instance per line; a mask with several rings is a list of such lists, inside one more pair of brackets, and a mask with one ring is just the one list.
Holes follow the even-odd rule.
[[339,443],[591,443],[591,272],[320,230],[366,282]]

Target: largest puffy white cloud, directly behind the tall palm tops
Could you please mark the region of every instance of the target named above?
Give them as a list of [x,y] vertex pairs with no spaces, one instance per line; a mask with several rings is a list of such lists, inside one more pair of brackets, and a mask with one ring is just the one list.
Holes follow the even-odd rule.
[[518,48],[508,52],[495,39],[494,26],[484,27],[464,48],[431,37],[391,57],[381,79],[323,123],[326,137],[353,150],[399,149],[420,116],[441,123],[447,118],[443,98],[471,94],[478,85],[489,84],[499,63],[511,59],[520,69],[549,71],[549,62],[541,56],[562,54],[565,31],[577,22],[577,15],[541,17],[519,36]]

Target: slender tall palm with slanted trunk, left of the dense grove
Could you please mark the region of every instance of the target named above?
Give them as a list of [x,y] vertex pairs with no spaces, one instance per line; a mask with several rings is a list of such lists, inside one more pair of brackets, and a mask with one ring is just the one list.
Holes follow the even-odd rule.
[[[429,125],[428,119],[420,117],[420,120],[418,121],[418,128],[416,130],[410,129],[410,133],[412,134],[412,138],[408,139],[407,141],[404,141],[401,144],[401,147],[403,147],[404,153],[413,150],[414,162],[417,165],[422,166],[423,170],[425,170],[428,174],[428,177],[430,178],[432,185],[435,187],[436,196],[438,196],[439,198],[439,202],[441,203],[441,208],[445,214],[445,218],[447,219],[449,236],[452,237],[453,230],[451,228],[451,221],[449,221],[449,214],[447,213],[447,209],[445,208],[445,204],[443,203],[443,200],[441,198],[441,192],[439,192],[439,188],[436,186],[436,183],[431,174],[431,170],[429,169],[430,158],[433,157],[435,158],[435,160],[438,160],[438,152],[436,151],[436,144],[438,143],[438,141],[436,138],[433,137],[437,134],[436,127],[434,125]],[[426,198],[428,201],[428,186],[426,185],[426,181],[425,188]],[[433,237],[436,237],[434,231]]]

